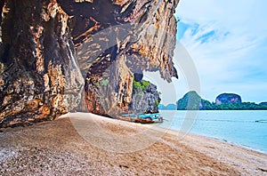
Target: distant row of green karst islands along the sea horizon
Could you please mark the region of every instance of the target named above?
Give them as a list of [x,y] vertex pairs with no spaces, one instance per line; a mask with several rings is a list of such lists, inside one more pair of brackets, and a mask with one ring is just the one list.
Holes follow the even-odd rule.
[[175,104],[158,106],[161,110],[267,110],[267,102],[242,102],[235,93],[219,94],[214,102],[202,99],[197,92],[187,92]]

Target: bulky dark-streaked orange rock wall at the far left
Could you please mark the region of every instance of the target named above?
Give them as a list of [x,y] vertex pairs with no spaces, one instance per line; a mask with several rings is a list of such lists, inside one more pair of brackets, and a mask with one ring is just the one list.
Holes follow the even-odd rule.
[[76,108],[84,79],[69,15],[55,0],[4,2],[0,127],[54,119]]

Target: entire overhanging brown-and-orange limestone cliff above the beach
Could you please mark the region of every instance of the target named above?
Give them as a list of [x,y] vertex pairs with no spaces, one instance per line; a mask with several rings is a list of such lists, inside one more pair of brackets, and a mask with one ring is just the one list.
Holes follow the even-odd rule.
[[80,106],[116,116],[132,101],[134,74],[159,70],[170,82],[177,77],[177,4],[1,1],[0,127],[54,119]]

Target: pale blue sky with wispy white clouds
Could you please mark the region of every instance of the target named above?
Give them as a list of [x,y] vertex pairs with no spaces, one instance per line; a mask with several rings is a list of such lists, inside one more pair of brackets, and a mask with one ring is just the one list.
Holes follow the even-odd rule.
[[[243,101],[267,101],[266,7],[265,0],[180,1],[177,38],[195,63],[203,98],[214,101],[222,92],[234,92]],[[188,71],[179,66],[186,57],[177,48],[180,78],[174,84],[180,99],[191,88]]]

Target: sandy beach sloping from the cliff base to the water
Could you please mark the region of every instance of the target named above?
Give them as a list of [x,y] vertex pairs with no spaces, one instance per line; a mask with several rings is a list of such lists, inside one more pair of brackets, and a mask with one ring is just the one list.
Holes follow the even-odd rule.
[[267,155],[75,113],[0,131],[0,175],[267,175]]

